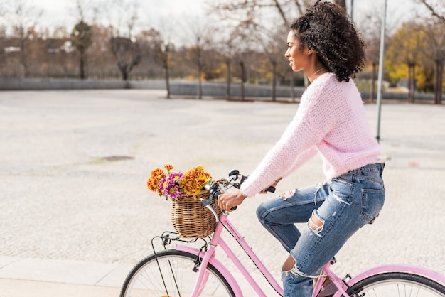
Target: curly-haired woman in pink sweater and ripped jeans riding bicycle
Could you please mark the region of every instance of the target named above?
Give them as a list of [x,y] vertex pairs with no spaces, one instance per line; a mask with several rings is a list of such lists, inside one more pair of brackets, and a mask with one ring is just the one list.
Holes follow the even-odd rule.
[[[364,43],[345,11],[316,1],[291,24],[286,58],[311,85],[281,139],[237,193],[220,196],[224,210],[276,185],[319,153],[326,183],[282,193],[259,205],[257,216],[289,258],[282,268],[284,296],[311,296],[313,279],[355,231],[380,212],[384,164],[351,77],[365,63]],[[294,223],[307,222],[297,229]]]

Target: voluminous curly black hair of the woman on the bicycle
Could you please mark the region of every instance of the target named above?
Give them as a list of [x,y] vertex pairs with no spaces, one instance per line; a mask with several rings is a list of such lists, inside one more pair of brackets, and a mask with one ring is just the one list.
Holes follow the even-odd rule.
[[365,43],[346,11],[331,2],[316,1],[291,24],[301,48],[316,51],[321,63],[348,82],[365,65]]

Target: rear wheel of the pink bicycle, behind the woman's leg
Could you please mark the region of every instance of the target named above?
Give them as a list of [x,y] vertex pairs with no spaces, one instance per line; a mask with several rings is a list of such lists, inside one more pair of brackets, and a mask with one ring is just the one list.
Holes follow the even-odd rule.
[[358,281],[346,293],[370,297],[445,297],[445,286],[418,274],[385,272]]

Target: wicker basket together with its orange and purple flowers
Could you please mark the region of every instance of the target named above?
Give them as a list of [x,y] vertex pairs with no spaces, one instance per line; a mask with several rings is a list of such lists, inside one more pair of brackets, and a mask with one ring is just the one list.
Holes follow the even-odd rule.
[[[191,168],[186,173],[173,172],[170,164],[163,168],[151,171],[146,185],[152,192],[171,200],[171,222],[176,232],[184,238],[202,238],[212,234],[216,227],[215,217],[200,201],[210,195],[204,188],[210,183],[210,173],[205,172],[203,166]],[[212,207],[221,215],[216,202],[212,203]]]

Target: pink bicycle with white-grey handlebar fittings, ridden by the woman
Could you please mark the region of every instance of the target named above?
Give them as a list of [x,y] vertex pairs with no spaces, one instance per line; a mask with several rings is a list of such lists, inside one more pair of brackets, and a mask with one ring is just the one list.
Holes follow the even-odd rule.
[[[211,203],[218,199],[220,193],[227,192],[229,188],[240,188],[240,183],[245,178],[238,171],[231,171],[229,180],[220,180],[218,183],[206,186],[210,197],[208,200],[201,199],[201,202],[213,212],[215,220],[218,222],[213,235],[202,239],[204,244],[200,249],[183,244],[197,242],[198,238],[181,239],[174,232],[164,232],[161,236],[154,237],[151,242],[154,254],[141,260],[129,272],[120,296],[243,296],[235,277],[226,266],[215,258],[217,247],[223,249],[258,296],[267,296],[221,237],[224,229],[240,244],[257,269],[267,279],[269,285],[277,292],[277,295],[282,296],[282,286],[278,284],[254,254],[244,237],[232,225],[228,219],[229,212],[223,212],[218,217],[211,207]],[[273,191],[274,189],[267,190]],[[163,250],[155,251],[155,239],[161,239]],[[178,244],[173,249],[167,249],[167,246],[172,242],[178,242]],[[341,278],[331,270],[331,265],[335,262],[336,259],[333,258],[323,266],[314,286],[313,297],[445,296],[445,276],[430,269],[392,264],[377,266],[354,277],[347,274]],[[327,279],[331,281],[331,284],[325,286]]]

